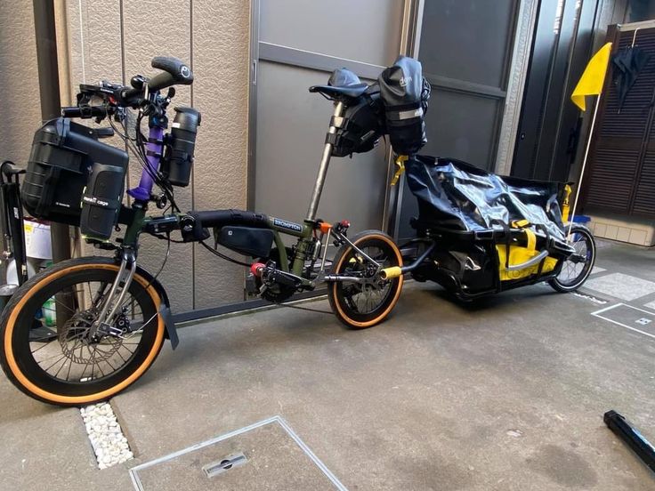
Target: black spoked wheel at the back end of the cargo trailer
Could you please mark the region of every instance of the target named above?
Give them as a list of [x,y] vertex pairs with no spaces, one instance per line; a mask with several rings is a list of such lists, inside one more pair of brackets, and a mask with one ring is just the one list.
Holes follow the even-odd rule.
[[[584,225],[574,223],[570,229],[571,245],[578,256],[575,261],[568,259],[563,262],[560,274],[548,280],[548,285],[562,294],[574,292],[586,282],[596,261],[596,244],[594,236]],[[584,258],[584,261],[580,261]]]

